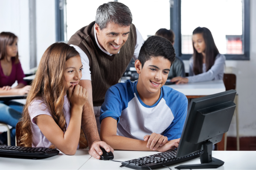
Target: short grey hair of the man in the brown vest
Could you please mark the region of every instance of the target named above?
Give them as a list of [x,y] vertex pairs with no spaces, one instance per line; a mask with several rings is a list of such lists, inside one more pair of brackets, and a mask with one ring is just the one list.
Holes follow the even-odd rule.
[[119,26],[130,26],[132,14],[128,6],[119,2],[108,2],[97,9],[95,22],[100,29],[106,28],[110,22]]

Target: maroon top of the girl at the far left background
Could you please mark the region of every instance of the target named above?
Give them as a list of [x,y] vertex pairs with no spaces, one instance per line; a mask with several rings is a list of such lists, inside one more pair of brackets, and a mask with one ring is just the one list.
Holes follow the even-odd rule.
[[15,57],[12,57],[12,72],[9,76],[3,74],[3,68],[0,64],[0,88],[6,85],[12,86],[16,80],[18,83],[27,85],[27,83],[23,80],[23,77],[25,77],[25,74],[23,73],[20,62],[15,64]]

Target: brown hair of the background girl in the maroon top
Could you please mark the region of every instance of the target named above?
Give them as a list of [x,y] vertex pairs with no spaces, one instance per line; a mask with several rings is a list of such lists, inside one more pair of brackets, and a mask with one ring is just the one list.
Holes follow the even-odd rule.
[[[7,56],[6,47],[7,45],[12,45],[18,37],[11,32],[1,32],[0,33],[0,60],[4,59]],[[19,62],[19,54],[17,52],[15,57],[15,63]]]

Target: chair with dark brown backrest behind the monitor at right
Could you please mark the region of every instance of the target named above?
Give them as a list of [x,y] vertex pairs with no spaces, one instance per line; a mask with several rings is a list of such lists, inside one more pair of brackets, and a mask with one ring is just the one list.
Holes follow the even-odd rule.
[[[236,75],[235,74],[224,74],[223,82],[228,90],[236,90]],[[239,118],[238,118],[238,94],[236,94],[234,102],[236,103],[236,109],[234,115],[236,115],[236,150],[240,150],[239,142]],[[224,134],[224,150],[227,150],[227,133]]]

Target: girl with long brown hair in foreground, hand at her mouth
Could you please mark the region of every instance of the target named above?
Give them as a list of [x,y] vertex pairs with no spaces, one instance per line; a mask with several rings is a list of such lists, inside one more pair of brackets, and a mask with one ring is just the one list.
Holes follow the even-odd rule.
[[79,53],[62,42],[50,45],[28,93],[21,119],[20,145],[56,147],[67,155],[79,148],[82,107],[88,93],[78,85]]

